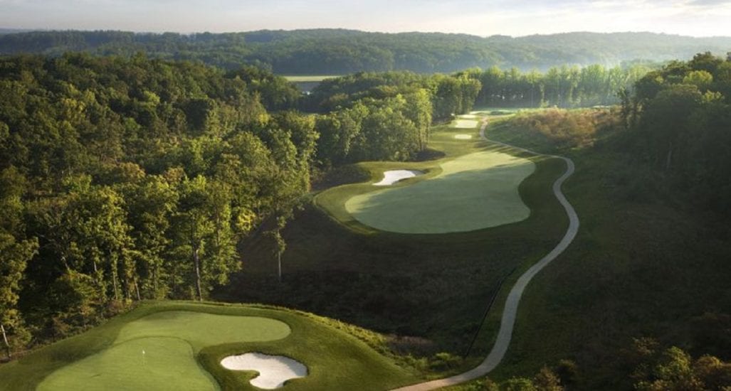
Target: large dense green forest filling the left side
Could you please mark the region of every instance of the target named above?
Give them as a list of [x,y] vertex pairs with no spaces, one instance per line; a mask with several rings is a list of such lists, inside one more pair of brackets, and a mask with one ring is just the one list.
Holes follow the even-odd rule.
[[259,91],[276,87],[258,76],[143,56],[0,61],[12,348],[131,300],[206,298],[240,268],[238,240],[308,191],[317,141],[312,117],[268,112]]

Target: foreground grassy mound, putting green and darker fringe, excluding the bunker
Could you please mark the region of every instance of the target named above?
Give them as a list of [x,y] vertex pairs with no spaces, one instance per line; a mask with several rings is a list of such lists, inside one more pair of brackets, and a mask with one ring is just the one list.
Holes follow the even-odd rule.
[[148,302],[0,366],[0,389],[255,390],[249,384],[254,373],[219,365],[223,357],[243,352],[305,364],[308,376],[292,380],[289,390],[382,390],[413,381],[409,369],[346,329],[282,309]]

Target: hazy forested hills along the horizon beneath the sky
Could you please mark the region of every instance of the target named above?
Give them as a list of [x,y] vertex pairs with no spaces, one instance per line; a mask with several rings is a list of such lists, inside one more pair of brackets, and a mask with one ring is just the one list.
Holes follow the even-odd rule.
[[344,74],[406,69],[449,72],[474,66],[545,70],[564,64],[689,59],[731,52],[731,37],[654,33],[566,33],[513,38],[466,34],[369,33],[343,29],[149,34],[126,31],[31,31],[0,35],[0,54],[132,55],[202,61],[230,69],[242,63],[279,74]]

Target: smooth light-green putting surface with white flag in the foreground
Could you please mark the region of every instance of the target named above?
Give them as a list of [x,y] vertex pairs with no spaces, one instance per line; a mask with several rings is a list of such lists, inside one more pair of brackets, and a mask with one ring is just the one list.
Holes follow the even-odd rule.
[[38,390],[218,390],[195,360],[200,349],[275,341],[291,331],[265,317],[156,312],[124,325],[109,349],[54,371]]

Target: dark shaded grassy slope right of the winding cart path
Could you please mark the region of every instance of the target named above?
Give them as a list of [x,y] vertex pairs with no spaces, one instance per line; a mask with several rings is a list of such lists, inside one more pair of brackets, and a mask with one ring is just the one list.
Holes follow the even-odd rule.
[[[496,125],[489,137],[550,150],[510,123]],[[641,336],[695,357],[730,358],[717,339],[722,325],[711,325],[715,341],[697,326],[705,312],[731,308],[731,249],[707,216],[682,195],[647,185],[656,174],[613,152],[612,143],[561,152],[576,163],[564,192],[581,228],[567,252],[527,288],[494,379],[532,377],[542,365],[569,358],[580,368],[575,389],[630,390],[625,351]]]

